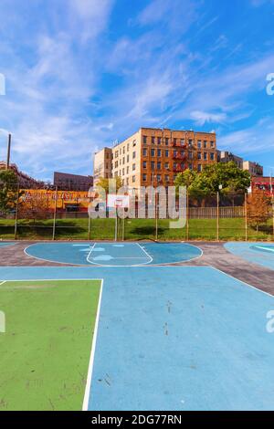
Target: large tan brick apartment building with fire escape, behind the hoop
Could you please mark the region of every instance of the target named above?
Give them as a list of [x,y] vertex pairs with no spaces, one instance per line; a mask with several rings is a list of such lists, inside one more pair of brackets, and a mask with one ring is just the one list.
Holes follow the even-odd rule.
[[94,172],[96,179],[120,176],[132,188],[168,186],[185,169],[201,172],[205,164],[214,162],[215,133],[141,128],[113,148],[97,152]]

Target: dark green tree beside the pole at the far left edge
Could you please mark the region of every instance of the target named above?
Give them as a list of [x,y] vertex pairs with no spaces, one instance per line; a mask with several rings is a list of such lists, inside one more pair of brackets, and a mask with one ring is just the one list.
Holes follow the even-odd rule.
[[[17,176],[13,170],[0,171],[0,213],[6,214],[16,209]],[[22,193],[19,193],[19,196]]]

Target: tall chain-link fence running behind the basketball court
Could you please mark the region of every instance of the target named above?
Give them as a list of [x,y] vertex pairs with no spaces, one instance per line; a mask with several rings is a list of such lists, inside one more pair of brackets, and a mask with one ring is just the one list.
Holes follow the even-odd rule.
[[[37,199],[30,198],[37,193]],[[155,202],[153,216],[136,209],[132,218],[117,219],[119,240],[274,240],[274,210],[270,200],[265,211],[245,194],[187,198],[184,225],[173,227],[168,213]],[[113,240],[115,213],[90,218],[88,193],[53,190],[16,191],[14,203],[0,213],[0,239],[18,240]],[[263,212],[263,213],[262,213]],[[132,213],[132,212],[131,212]],[[98,215],[96,211],[93,216]]]

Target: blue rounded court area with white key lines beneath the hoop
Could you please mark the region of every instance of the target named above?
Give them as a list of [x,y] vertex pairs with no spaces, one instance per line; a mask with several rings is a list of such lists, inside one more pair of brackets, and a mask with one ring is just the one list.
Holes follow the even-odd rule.
[[194,259],[202,251],[185,243],[38,243],[26,255],[81,266],[132,267]]

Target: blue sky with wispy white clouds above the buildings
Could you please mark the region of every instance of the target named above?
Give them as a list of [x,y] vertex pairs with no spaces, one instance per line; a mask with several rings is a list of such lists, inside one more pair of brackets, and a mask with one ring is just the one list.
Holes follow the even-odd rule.
[[1,0],[0,159],[92,173],[141,126],[216,131],[274,168],[274,0]]

